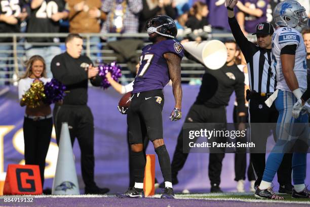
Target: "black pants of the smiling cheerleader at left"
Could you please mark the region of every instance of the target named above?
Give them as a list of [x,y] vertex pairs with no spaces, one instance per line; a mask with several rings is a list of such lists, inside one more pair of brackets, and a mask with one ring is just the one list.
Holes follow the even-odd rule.
[[24,118],[25,164],[40,167],[42,187],[44,185],[45,158],[49,150],[53,128],[53,119],[34,121]]

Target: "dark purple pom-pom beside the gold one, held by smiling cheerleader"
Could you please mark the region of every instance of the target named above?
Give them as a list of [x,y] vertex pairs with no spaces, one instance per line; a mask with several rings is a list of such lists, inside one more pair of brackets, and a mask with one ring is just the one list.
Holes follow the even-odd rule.
[[66,95],[65,90],[66,87],[62,83],[53,78],[50,82],[47,82],[44,85],[44,93],[45,93],[44,102],[46,104],[51,104],[62,100],[63,97]]

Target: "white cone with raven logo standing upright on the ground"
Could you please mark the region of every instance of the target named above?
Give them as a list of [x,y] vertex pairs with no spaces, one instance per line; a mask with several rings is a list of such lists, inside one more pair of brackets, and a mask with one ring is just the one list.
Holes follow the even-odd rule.
[[80,188],[76,176],[73,151],[68,123],[61,126],[56,174],[53,181],[53,195],[79,195]]

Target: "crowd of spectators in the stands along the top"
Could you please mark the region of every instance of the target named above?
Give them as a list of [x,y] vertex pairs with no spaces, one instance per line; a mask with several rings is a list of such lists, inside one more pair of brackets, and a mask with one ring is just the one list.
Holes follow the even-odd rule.
[[[178,28],[177,39],[200,41],[210,39],[208,34],[231,33],[226,20],[226,6],[223,0],[183,1],[183,0],[2,0],[0,14],[0,33],[138,33],[145,32],[146,21],[156,15],[167,15],[175,20]],[[244,34],[255,32],[260,22],[273,22],[272,11],[280,0],[242,0],[237,4],[236,18]],[[298,0],[310,17],[310,3]],[[231,38],[213,38],[225,41]],[[115,41],[116,38],[90,38],[92,55],[100,57],[101,42]],[[253,39],[253,41],[255,41]],[[0,42],[0,85],[3,78],[12,78],[13,67],[10,57],[13,53],[12,38],[1,38]],[[19,59],[28,60],[31,56],[41,54],[47,65],[47,75],[52,78],[50,63],[52,58],[61,53],[57,43],[59,38],[21,39],[17,51]],[[55,44],[53,44],[55,43]],[[140,43],[140,42],[138,42]],[[137,44],[138,44],[137,43]],[[113,48],[115,46],[109,46]],[[137,46],[136,46],[137,47]],[[141,49],[141,48],[139,48]],[[137,59],[137,58],[136,58]],[[98,58],[97,63],[101,60]],[[12,65],[12,64],[11,64]],[[21,65],[24,65],[22,63]],[[135,63],[131,71],[135,73]],[[24,68],[19,68],[24,71]],[[10,74],[10,76],[9,76]],[[201,83],[201,82],[199,82]],[[9,84],[9,82],[6,82]],[[194,83],[195,84],[195,83]]]

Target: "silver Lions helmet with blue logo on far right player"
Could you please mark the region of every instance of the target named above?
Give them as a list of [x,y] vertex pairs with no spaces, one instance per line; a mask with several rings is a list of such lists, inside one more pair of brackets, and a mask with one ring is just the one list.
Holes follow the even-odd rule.
[[274,19],[277,26],[287,26],[298,31],[308,26],[305,9],[294,0],[280,2],[274,9]]

